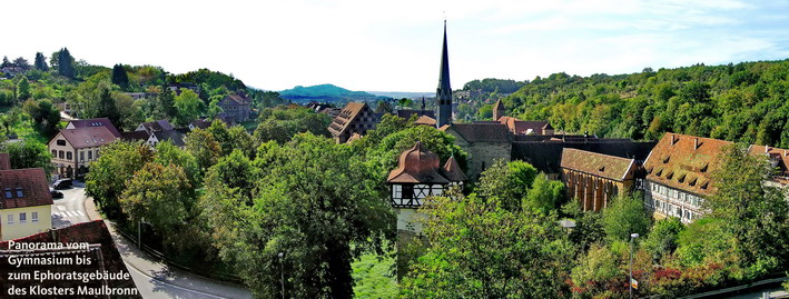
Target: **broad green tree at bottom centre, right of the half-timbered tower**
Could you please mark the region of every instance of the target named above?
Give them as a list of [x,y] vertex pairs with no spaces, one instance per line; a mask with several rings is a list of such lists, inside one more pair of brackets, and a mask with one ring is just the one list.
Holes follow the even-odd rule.
[[427,247],[403,279],[403,297],[569,296],[573,250],[555,217],[511,211],[474,195],[438,197],[423,211]]

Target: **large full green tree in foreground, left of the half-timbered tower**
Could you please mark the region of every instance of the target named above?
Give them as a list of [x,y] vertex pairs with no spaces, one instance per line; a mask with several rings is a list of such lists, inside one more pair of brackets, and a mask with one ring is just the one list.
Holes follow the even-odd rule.
[[211,201],[233,219],[209,220],[215,236],[229,235],[219,241],[221,256],[259,297],[282,296],[274,267],[282,262],[287,297],[349,298],[351,261],[367,250],[381,251],[382,238],[394,230],[388,202],[348,147],[306,133],[285,148],[256,185],[252,206],[241,205],[243,197],[233,191],[239,188],[218,187],[219,197]]

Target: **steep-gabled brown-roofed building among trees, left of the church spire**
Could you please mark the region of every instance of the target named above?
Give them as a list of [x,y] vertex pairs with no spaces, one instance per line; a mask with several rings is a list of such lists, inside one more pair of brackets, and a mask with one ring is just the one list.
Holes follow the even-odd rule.
[[378,117],[366,103],[349,102],[343,108],[339,114],[334,118],[328,126],[328,131],[334,137],[335,142],[345,143],[351,136],[358,133],[367,134],[368,130],[375,129]]

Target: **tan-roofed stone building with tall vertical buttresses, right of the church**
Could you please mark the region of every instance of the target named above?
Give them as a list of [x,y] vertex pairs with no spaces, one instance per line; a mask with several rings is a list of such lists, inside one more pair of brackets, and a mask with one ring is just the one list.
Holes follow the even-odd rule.
[[561,167],[568,198],[576,198],[584,211],[600,211],[633,189],[638,165],[635,159],[564,148]]

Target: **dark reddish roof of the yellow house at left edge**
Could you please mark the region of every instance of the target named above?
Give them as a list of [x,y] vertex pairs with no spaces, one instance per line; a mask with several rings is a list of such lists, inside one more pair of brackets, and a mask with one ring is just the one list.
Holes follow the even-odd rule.
[[[21,197],[17,191],[21,191]],[[10,191],[10,196],[6,191]],[[41,168],[0,170],[0,209],[52,205]]]

